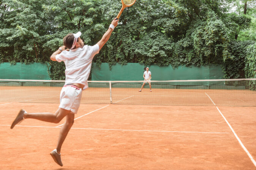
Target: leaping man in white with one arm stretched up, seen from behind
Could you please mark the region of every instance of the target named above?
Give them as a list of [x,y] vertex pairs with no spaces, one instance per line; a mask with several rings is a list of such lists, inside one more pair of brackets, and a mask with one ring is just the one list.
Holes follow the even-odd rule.
[[[87,79],[90,74],[92,66],[92,59],[95,54],[98,54],[103,45],[109,40],[112,31],[117,26],[119,20],[113,20],[107,32],[103,35],[101,40],[94,46],[84,45],[83,40],[80,38],[81,32],[76,34],[68,34],[63,38],[63,46],[55,51],[51,60],[64,62],[66,66],[65,85],[60,92],[60,105],[58,110],[53,113],[27,113],[25,110],[21,110],[17,117],[14,119],[11,129],[24,119],[38,119],[40,121],[58,123],[64,117],[66,122],[60,129],[60,135],[56,149],[50,154],[54,161],[63,166],[60,158],[60,149],[68,134],[68,131],[74,123],[74,114],[80,105],[82,91],[88,87]],[[70,49],[69,51],[66,48]]]

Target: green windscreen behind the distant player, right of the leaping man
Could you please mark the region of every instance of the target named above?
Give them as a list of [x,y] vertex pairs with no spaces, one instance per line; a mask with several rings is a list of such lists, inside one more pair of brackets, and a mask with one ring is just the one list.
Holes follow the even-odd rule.
[[[101,63],[100,67],[93,63],[93,81],[136,81],[144,80],[145,66],[139,63],[119,63],[112,65],[110,69],[108,63]],[[151,80],[203,80],[203,79],[222,79],[223,73],[220,65],[207,66],[179,66],[172,68],[169,66],[149,66],[152,73]]]

